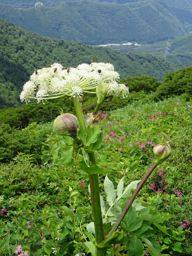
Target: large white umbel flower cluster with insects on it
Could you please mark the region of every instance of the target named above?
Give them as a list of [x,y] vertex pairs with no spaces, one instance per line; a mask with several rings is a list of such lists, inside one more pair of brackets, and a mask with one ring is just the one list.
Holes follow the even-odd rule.
[[83,63],[77,68],[64,68],[54,63],[50,68],[38,69],[30,76],[30,80],[24,84],[20,99],[28,103],[34,98],[40,102],[63,96],[82,96],[84,92],[95,93],[96,87],[103,82],[111,84],[110,95],[122,94],[124,98],[128,88],[118,85],[115,82],[117,79],[119,74],[109,63]]

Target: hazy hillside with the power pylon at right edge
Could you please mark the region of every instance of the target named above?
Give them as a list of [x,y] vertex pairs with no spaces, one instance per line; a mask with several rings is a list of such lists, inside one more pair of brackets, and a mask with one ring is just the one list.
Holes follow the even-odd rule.
[[[192,65],[192,34],[168,41],[158,42],[156,44],[146,44],[141,46],[112,45],[108,47],[120,52],[152,53],[162,58],[165,57],[166,60],[180,67]],[[167,54],[165,56],[166,49]]]

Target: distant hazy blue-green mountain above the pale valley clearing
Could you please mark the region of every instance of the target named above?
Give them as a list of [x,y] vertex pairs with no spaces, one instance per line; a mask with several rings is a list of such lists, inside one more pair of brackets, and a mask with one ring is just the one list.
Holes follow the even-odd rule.
[[187,33],[176,16],[154,0],[128,4],[57,2],[20,10],[0,4],[0,18],[42,36],[91,45],[154,43]]

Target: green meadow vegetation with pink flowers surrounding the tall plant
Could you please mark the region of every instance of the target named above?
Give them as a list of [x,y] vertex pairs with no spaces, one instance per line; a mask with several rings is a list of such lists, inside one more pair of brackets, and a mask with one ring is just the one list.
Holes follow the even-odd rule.
[[[132,82],[131,78],[129,81]],[[147,83],[150,84],[149,78]],[[139,194],[138,207],[147,208],[136,213],[139,221],[140,214],[150,210],[148,213],[154,222],[144,220],[144,224],[151,226],[145,235],[166,256],[192,254],[192,208],[188,204],[192,191],[191,107],[191,102],[186,102],[183,96],[154,103],[146,95],[110,112],[110,119],[104,125],[105,142],[110,148],[106,151],[106,160],[97,159],[98,166],[114,182],[115,188],[122,177],[127,186],[140,180],[151,166],[152,148],[163,141],[160,132],[172,140],[172,156],[154,171]],[[2,159],[4,163],[0,165],[3,255],[11,255],[22,245],[30,255],[36,256],[54,255],[54,248],[59,248],[58,255],[90,256],[93,249],[84,243],[94,242],[94,236],[86,228],[92,221],[88,175],[77,165],[59,164],[64,147],[62,136],[52,132],[52,123],[30,124],[17,133],[5,124],[0,130],[1,140],[4,134],[8,138],[4,139],[6,148],[12,148],[14,143],[18,147],[18,152],[7,152],[7,160]],[[37,150],[38,144],[41,151]],[[29,150],[24,154],[27,147]],[[36,149],[30,151],[30,147]],[[5,163],[13,157],[14,162]],[[104,178],[105,175],[100,174],[101,194],[106,200]],[[164,218],[161,220],[160,216]],[[160,226],[162,230],[157,229]],[[118,255],[129,256],[126,246],[116,246]],[[143,246],[148,255],[146,244]],[[112,252],[111,246],[108,252]]]

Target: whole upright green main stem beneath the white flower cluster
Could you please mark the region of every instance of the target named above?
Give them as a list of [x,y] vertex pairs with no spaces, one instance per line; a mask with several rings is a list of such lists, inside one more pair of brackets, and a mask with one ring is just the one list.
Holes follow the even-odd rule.
[[[78,120],[80,124],[83,126],[84,130],[86,130],[84,116],[83,116],[82,109],[77,96],[75,98],[72,98],[72,100],[74,103]],[[88,155],[89,155],[90,161],[93,164],[96,164],[94,153],[88,153]],[[100,244],[100,242],[102,242],[105,239],[105,235],[104,235],[104,228],[103,228],[103,221],[102,221],[98,174],[90,174],[89,180],[90,180],[91,204],[92,204],[93,220],[94,220],[94,226],[95,226],[96,243]],[[106,251],[107,251],[107,248],[102,248],[102,249],[97,248],[97,256],[106,256]]]

